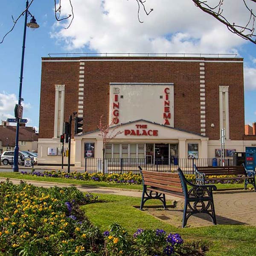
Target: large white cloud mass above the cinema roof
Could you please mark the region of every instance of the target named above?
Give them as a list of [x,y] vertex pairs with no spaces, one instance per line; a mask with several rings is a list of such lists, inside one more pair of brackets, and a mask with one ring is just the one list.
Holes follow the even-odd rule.
[[[70,14],[68,0],[61,1],[62,15]],[[67,50],[87,46],[97,52],[186,52],[233,53],[245,41],[227,30],[191,0],[148,0],[149,16],[137,20],[135,0],[73,0],[75,18],[69,29],[55,26],[52,37],[64,42]],[[245,22],[242,1],[225,1],[225,14]],[[225,6],[224,6],[225,7]],[[245,16],[245,17],[244,17]]]

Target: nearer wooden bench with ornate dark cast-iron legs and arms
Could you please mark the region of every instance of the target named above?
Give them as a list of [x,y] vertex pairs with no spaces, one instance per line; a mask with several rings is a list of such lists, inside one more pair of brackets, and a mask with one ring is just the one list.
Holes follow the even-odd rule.
[[[214,185],[194,185],[186,180],[181,169],[178,173],[145,171],[138,166],[142,174],[143,192],[140,209],[149,199],[159,199],[166,209],[165,195],[173,195],[184,198],[182,227],[185,227],[188,218],[197,213],[206,213],[212,223],[216,224],[216,216],[213,204],[212,190]],[[188,189],[189,186],[189,189]]]

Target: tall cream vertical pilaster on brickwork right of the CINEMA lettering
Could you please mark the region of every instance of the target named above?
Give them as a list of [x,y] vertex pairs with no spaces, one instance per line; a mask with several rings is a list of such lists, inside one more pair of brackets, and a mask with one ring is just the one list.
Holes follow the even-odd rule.
[[228,85],[219,86],[220,136],[221,129],[225,129],[227,140],[230,139],[228,88]]

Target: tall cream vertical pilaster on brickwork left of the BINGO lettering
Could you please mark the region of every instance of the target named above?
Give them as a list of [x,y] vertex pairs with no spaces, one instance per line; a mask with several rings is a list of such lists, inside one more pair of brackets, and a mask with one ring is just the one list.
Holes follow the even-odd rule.
[[65,85],[55,85],[54,137],[63,134]]

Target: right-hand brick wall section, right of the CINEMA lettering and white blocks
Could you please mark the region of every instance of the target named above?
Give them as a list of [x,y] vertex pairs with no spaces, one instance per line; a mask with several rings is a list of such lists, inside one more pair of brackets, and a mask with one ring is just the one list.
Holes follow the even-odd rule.
[[[243,63],[205,63],[206,135],[219,140],[219,85],[228,85],[230,140],[244,134]],[[211,124],[214,127],[211,127]]]

